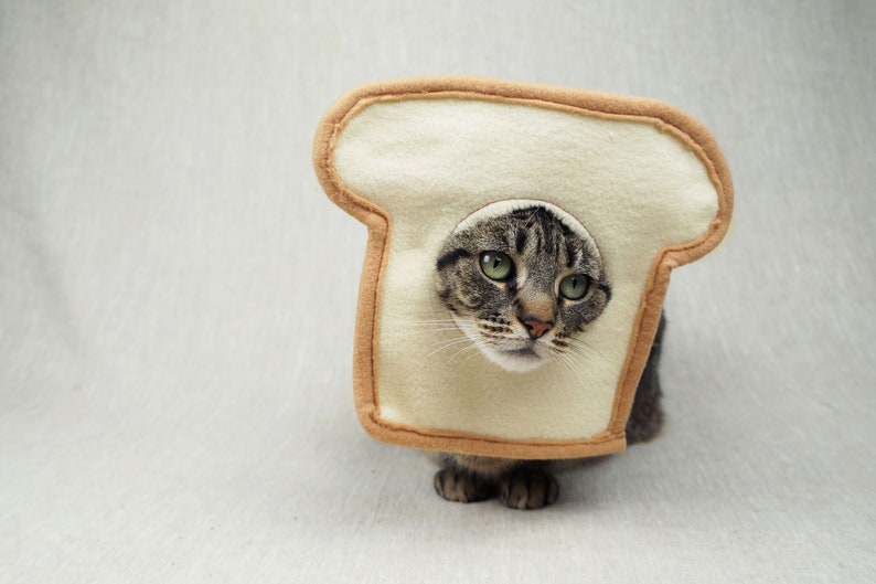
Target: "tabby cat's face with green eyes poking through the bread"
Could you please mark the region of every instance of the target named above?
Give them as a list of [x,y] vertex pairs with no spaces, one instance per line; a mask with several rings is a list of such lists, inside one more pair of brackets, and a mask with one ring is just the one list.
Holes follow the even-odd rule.
[[583,227],[545,205],[463,223],[436,264],[438,296],[491,361],[530,371],[575,350],[611,296]]

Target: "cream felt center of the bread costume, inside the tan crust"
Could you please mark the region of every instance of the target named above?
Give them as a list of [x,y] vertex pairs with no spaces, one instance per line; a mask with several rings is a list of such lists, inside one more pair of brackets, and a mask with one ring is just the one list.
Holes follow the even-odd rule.
[[[334,147],[344,185],[391,217],[378,288],[380,415],[429,431],[586,439],[609,425],[649,273],[718,212],[707,169],[642,118],[478,98],[408,97],[355,110]],[[596,242],[612,285],[571,367],[509,372],[452,325],[436,296],[444,240],[499,201],[544,201]],[[509,203],[509,204],[514,204]]]

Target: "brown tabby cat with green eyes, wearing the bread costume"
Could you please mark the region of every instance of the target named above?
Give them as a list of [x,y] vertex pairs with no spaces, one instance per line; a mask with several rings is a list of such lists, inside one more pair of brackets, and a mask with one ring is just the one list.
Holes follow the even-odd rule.
[[[599,249],[574,222],[545,204],[527,204],[463,222],[444,242],[436,262],[438,298],[462,333],[506,371],[567,359],[575,336],[611,300]],[[652,438],[662,425],[658,364],[664,328],[661,316],[627,423],[630,444]],[[514,509],[537,509],[559,492],[546,460],[449,453],[440,460],[434,486],[450,501],[498,497]]]

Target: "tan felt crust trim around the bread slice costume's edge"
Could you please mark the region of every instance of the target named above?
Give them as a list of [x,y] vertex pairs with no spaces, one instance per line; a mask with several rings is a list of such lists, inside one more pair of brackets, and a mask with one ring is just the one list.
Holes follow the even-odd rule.
[[[359,110],[377,100],[410,98],[469,98],[515,103],[573,112],[592,117],[645,121],[685,142],[706,167],[718,194],[718,212],[703,235],[664,248],[651,267],[650,284],[639,314],[616,390],[607,431],[585,440],[510,440],[474,434],[427,431],[381,418],[376,369],[380,290],[392,235],[389,214],[348,189],[334,170],[332,153],[343,127]],[[656,333],[660,312],[673,268],[712,251],[724,237],[733,214],[733,182],[724,155],[712,134],[684,112],[654,99],[610,95],[564,87],[484,77],[450,76],[391,81],[348,93],[327,112],[317,129],[313,166],[329,198],[364,223],[368,242],[359,291],[354,340],[353,385],[356,414],[375,439],[413,448],[513,458],[577,458],[620,452],[639,378]]]

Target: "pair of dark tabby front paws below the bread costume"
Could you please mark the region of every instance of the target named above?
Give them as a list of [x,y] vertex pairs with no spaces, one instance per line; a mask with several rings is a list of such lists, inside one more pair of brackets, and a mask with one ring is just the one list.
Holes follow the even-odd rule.
[[499,496],[513,509],[540,509],[556,501],[556,478],[543,464],[471,455],[442,455],[435,490],[449,501],[474,502]]

